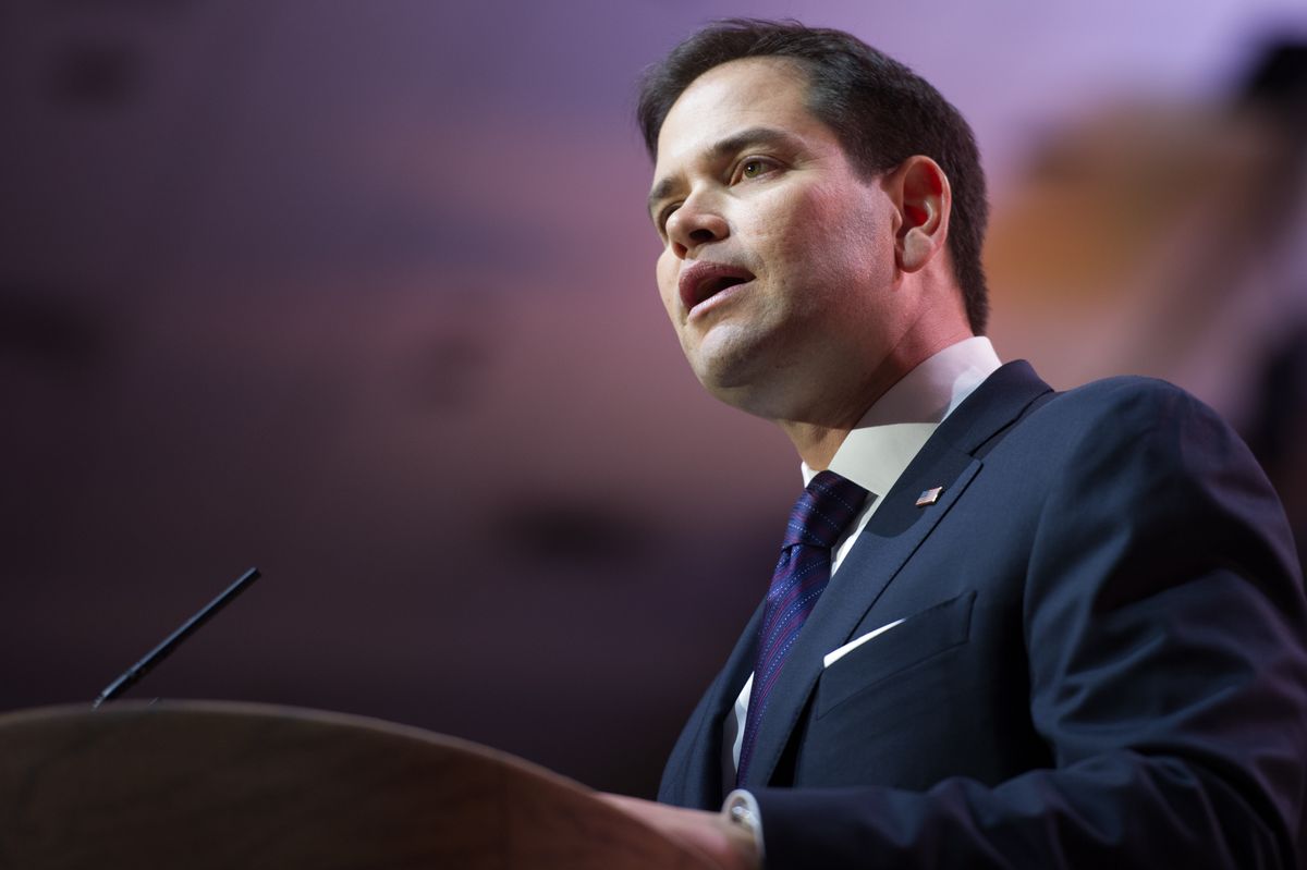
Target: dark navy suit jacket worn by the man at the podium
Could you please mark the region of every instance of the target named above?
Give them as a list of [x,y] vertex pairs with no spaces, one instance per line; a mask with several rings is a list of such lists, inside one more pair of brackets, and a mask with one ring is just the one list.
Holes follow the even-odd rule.
[[[733,786],[721,725],[758,618],[659,799]],[[767,866],[1295,867],[1304,639],[1283,512],[1210,409],[1004,366],[886,494],[784,666],[742,784]]]

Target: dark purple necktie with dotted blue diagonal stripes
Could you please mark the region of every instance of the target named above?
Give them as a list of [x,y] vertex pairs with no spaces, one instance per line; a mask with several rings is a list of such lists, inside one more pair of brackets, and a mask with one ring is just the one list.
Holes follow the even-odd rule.
[[745,717],[736,782],[744,782],[758,738],[758,725],[786,656],[817,598],[830,580],[830,549],[863,509],[867,490],[834,472],[821,472],[808,483],[789,513],[780,562],[771,575],[767,606],[758,628],[749,715]]

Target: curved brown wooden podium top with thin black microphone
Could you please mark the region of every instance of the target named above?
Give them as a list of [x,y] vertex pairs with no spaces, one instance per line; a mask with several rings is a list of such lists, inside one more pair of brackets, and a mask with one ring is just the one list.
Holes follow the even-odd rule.
[[222,701],[0,716],[0,867],[708,870],[540,767],[378,720]]

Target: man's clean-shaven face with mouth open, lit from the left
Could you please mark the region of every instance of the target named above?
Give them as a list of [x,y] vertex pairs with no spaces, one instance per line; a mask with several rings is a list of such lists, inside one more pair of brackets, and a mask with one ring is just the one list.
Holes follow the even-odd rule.
[[659,291],[703,385],[761,417],[829,423],[861,413],[834,406],[856,402],[904,328],[899,221],[805,90],[778,57],[697,78],[659,133],[650,205]]

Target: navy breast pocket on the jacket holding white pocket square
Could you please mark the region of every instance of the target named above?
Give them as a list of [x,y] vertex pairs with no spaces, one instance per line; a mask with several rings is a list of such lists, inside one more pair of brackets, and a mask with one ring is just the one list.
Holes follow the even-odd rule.
[[975,600],[971,590],[927,607],[833,662],[817,683],[817,718],[890,677],[965,644]]

